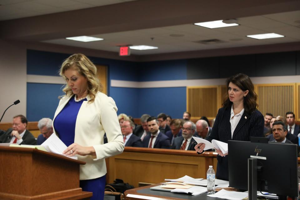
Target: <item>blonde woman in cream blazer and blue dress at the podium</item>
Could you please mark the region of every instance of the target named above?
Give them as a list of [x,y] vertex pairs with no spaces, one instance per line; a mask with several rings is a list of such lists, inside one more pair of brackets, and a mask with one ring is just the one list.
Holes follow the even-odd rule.
[[53,131],[68,146],[65,155],[77,155],[78,160],[86,162],[80,165],[80,187],[93,192],[91,199],[103,199],[105,158],[124,150],[118,108],[111,97],[99,92],[96,67],[83,54],[67,58],[60,74],[67,82],[63,89],[66,95],[55,112]]

